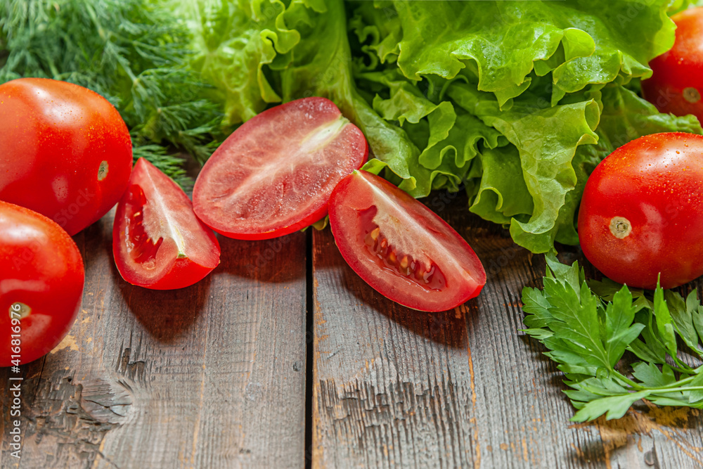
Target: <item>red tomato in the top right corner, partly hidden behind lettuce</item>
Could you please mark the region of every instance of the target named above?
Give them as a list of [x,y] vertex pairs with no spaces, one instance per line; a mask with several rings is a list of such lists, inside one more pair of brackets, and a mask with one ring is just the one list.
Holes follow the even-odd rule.
[[650,62],[652,77],[642,82],[642,92],[662,113],[692,114],[703,122],[703,7],[671,19],[676,41]]

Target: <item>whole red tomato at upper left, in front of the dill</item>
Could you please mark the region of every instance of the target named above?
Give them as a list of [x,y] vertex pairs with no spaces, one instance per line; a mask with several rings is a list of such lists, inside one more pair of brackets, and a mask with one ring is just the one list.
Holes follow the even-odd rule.
[[127,126],[105,98],[76,84],[1,84],[0,148],[0,200],[44,214],[70,235],[100,219],[127,188]]

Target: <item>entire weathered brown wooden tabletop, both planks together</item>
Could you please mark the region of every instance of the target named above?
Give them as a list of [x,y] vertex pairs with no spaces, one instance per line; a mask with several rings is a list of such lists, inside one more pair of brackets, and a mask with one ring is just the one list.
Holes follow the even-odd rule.
[[219,238],[221,265],[200,283],[134,287],[112,262],[108,214],[75,236],[86,287],[70,335],[22,366],[20,460],[4,394],[2,467],[703,467],[697,410],[569,423],[560,373],[519,331],[543,256],[465,198],[428,200],[489,276],[439,314],[375,293],[329,229]]

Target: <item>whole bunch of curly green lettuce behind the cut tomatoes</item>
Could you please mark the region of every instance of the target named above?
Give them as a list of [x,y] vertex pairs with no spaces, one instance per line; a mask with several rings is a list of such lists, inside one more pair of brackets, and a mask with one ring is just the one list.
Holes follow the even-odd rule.
[[614,148],[660,131],[703,133],[694,117],[662,115],[636,93],[647,63],[673,44],[669,8],[690,3],[189,5],[196,63],[224,96],[228,124],[328,97],[366,135],[364,169],[418,198],[463,188],[469,210],[548,252],[578,242],[583,185]]

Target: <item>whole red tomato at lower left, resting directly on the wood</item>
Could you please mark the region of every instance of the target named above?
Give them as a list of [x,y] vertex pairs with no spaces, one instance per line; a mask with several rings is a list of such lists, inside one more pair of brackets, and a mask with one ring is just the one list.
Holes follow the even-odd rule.
[[58,224],[0,201],[0,366],[29,363],[61,342],[84,278],[76,243]]

